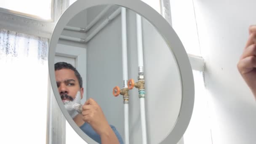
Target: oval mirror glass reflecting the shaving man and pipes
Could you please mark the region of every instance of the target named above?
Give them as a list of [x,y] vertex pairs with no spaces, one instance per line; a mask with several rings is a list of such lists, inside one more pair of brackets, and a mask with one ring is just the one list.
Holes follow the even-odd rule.
[[149,21],[117,5],[69,21],[55,78],[69,115],[98,143],[160,143],[179,116],[180,74],[168,45]]

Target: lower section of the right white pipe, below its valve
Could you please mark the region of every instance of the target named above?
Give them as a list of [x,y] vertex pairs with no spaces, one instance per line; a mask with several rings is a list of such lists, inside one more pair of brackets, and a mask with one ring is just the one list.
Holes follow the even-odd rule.
[[142,129],[142,144],[147,144],[147,128],[145,115],[145,98],[140,98],[141,106],[141,129]]

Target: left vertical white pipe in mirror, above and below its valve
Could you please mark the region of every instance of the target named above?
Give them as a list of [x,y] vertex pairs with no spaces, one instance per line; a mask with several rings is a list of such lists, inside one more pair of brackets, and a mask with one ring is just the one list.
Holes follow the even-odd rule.
[[[127,61],[127,35],[126,35],[126,10],[122,8],[122,51],[123,51],[123,81],[124,88],[127,88],[128,61]],[[125,144],[129,144],[129,104],[124,104],[125,114]]]

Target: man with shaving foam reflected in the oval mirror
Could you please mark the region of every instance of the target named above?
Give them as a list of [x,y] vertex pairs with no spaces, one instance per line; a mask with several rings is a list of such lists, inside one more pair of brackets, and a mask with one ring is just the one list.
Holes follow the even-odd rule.
[[83,81],[77,69],[66,62],[54,65],[59,94],[75,123],[89,137],[100,144],[123,144],[123,140],[114,126],[109,125],[101,107],[93,99],[83,105],[82,114],[72,107],[83,98]]

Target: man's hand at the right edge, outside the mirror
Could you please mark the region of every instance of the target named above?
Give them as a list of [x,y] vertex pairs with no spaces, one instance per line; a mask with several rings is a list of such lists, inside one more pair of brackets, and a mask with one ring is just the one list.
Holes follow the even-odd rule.
[[256,25],[249,27],[249,38],[237,68],[256,98]]

